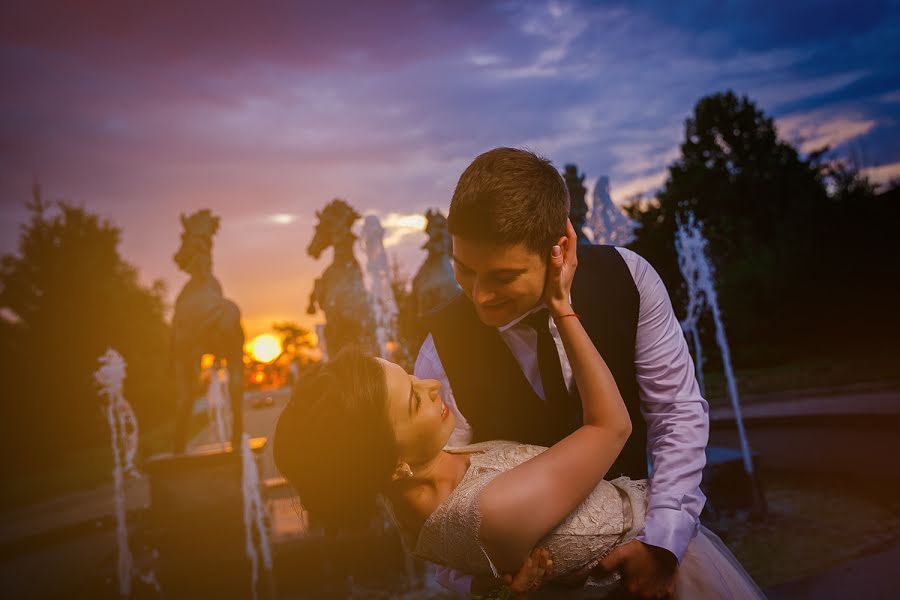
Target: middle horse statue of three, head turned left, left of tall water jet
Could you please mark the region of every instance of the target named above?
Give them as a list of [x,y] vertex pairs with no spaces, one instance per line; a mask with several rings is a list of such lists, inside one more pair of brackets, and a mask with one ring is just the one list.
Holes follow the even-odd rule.
[[353,255],[356,236],[350,229],[360,214],[341,199],[334,199],[316,212],[319,222],[306,253],[318,259],[329,246],[334,247],[331,265],[316,279],[306,312],[325,313],[325,348],[336,356],[349,344],[364,351],[375,351],[375,323],[362,270]]

